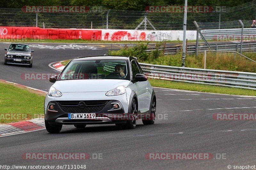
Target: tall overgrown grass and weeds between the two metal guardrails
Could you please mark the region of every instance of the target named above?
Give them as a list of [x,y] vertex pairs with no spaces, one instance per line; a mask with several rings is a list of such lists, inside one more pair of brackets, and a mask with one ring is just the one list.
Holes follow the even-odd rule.
[[[244,55],[256,60],[255,53],[244,53]],[[148,60],[139,62],[181,67],[181,56],[182,54],[178,53],[175,55],[159,56],[157,58],[148,57]],[[199,54],[197,58],[195,55],[186,55],[186,67],[204,68],[204,54]],[[235,60],[234,53],[215,54],[207,52],[206,69],[256,72],[256,63],[238,54],[236,54]]]

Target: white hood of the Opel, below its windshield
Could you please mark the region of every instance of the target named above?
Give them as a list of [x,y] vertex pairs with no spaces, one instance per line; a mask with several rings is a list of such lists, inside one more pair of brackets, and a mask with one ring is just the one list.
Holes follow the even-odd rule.
[[117,86],[131,85],[129,80],[122,79],[86,79],[86,80],[60,80],[52,87],[60,92],[108,92]]

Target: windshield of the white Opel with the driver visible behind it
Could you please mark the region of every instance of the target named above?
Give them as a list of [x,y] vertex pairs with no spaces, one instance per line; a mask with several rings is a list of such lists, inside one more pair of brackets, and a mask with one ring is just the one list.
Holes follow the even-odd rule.
[[58,80],[125,79],[130,80],[128,60],[71,61]]

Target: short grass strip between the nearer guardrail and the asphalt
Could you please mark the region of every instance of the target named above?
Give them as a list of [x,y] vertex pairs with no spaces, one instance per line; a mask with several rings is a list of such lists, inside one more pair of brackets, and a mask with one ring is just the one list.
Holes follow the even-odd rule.
[[190,91],[197,91],[197,92],[212,92],[212,93],[221,93],[221,94],[256,96],[256,90],[249,90],[249,89],[222,87],[217,85],[201,85],[201,84],[194,84],[194,83],[174,82],[174,81],[157,80],[157,79],[149,79],[149,82],[152,86],[155,86],[155,87],[190,90]]

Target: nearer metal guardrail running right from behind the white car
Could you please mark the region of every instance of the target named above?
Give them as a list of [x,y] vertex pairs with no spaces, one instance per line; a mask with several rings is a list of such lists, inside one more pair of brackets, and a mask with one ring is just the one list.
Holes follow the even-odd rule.
[[256,90],[256,73],[140,63],[149,78]]

